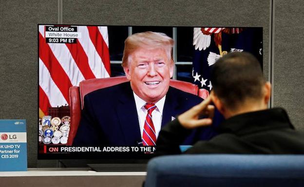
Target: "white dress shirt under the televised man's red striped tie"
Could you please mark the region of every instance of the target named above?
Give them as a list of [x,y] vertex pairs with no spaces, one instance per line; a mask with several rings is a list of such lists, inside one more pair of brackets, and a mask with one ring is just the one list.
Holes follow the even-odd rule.
[[[146,101],[142,100],[134,92],[133,92],[133,95],[134,95],[135,104],[136,104],[136,111],[138,114],[140,133],[141,133],[141,137],[142,137],[148,110],[146,110],[144,107],[146,105]],[[155,103],[156,109],[154,109],[152,112],[152,121],[153,121],[154,129],[155,129],[156,138],[158,137],[158,133],[161,128],[161,120],[163,117],[165,99],[166,99],[166,95],[163,98],[161,98],[157,103]]]

